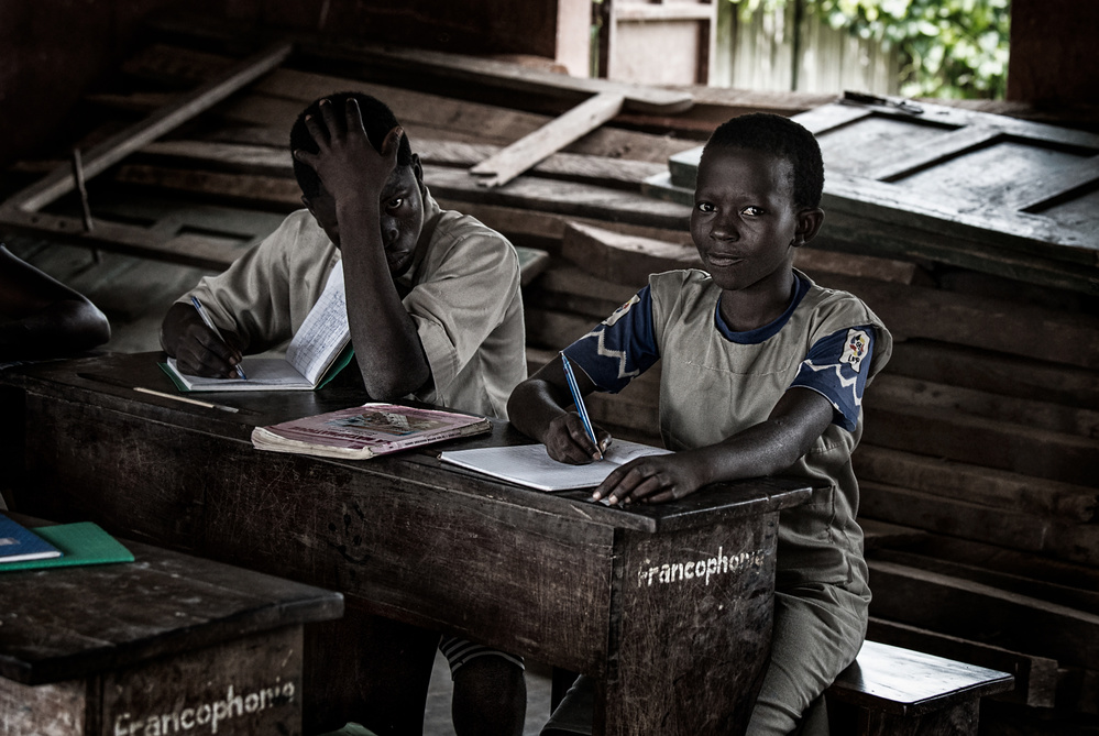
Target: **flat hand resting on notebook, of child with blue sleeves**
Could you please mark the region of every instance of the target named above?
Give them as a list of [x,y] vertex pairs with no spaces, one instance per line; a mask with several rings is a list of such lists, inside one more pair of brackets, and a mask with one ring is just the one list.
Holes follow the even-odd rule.
[[616,468],[592,498],[611,504],[660,504],[690,495],[706,484],[689,452],[648,455]]

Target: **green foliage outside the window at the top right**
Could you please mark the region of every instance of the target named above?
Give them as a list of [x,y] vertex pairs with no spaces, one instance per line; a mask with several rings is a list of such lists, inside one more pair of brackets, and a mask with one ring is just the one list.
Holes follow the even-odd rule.
[[798,1],[832,28],[897,44],[906,97],[1004,97],[1010,0],[730,0],[741,18]]

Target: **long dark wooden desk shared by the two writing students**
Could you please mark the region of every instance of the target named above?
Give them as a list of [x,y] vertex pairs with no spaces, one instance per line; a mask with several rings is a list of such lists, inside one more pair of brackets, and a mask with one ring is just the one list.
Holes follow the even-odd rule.
[[[361,394],[201,395],[241,409],[231,414],[134,392],[174,392],[157,358],[0,374],[0,416],[9,433],[25,428],[21,447],[0,444],[18,455],[7,466],[25,465],[18,508],[337,590],[372,613],[591,674],[596,733],[744,727],[770,640],[778,512],[807,487],[759,480],[627,510],[451,469],[440,446],[367,461],[260,452],[253,426]],[[442,447],[529,442],[494,425]]]

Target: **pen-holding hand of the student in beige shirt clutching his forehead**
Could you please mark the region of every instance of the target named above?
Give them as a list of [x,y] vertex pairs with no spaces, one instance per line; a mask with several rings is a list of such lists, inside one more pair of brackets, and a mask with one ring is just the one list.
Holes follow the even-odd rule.
[[235,332],[222,331],[223,342],[204,322],[193,306],[176,301],[161,323],[161,348],[190,375],[235,378],[243,341]]

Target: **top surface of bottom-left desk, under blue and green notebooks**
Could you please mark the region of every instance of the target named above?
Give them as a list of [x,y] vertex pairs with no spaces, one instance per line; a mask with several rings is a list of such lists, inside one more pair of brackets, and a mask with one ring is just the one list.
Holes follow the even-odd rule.
[[121,541],[133,562],[0,572],[0,677],[75,679],[343,614],[340,593]]

